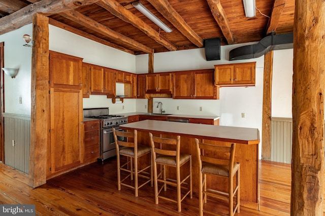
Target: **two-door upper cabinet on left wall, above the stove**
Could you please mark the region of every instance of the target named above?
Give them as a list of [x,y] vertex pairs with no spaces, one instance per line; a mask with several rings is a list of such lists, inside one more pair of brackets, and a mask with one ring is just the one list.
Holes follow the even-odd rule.
[[91,94],[115,97],[115,73],[114,69],[91,65]]

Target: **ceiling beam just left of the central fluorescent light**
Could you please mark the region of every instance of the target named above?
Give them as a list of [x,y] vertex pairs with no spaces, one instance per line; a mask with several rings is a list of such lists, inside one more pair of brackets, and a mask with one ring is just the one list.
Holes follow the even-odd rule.
[[169,51],[176,51],[177,48],[166,38],[161,36],[157,31],[155,31],[152,27],[142,21],[140,18],[135,16],[133,13],[126,10],[123,6],[121,6],[118,2],[114,0],[101,0],[96,3],[97,5],[105,8],[107,11],[111,12],[114,16],[123,20],[124,22],[131,23],[142,32],[154,39],[158,44],[166,47]]

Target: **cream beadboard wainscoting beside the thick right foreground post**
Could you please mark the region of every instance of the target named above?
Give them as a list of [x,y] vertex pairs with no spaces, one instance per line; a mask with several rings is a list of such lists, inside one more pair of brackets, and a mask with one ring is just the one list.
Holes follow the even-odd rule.
[[293,119],[271,118],[271,161],[291,163]]

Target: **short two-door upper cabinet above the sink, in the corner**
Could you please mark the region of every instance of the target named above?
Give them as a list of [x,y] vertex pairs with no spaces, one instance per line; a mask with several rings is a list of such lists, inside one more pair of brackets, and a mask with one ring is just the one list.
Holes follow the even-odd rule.
[[172,85],[172,73],[149,73],[146,74],[146,93],[166,93],[171,94]]

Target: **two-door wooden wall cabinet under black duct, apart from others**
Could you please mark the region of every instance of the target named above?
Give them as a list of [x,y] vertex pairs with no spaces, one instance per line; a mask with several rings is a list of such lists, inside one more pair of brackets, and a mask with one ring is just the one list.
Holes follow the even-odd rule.
[[255,85],[256,62],[214,65],[214,84],[219,86]]

